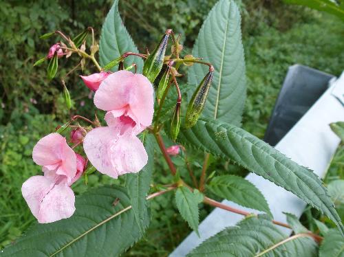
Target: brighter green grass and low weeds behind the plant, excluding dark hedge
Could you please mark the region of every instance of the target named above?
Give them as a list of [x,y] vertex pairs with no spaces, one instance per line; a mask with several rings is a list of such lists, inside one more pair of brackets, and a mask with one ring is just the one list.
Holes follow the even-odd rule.
[[[332,16],[317,15],[308,23],[294,24],[284,32],[259,23],[255,36],[244,36],[248,100],[243,126],[258,137],[264,136],[270,113],[290,65],[300,63],[337,76],[341,74],[344,23]],[[92,104],[92,101],[87,104]],[[40,170],[31,159],[32,147],[56,126],[54,116],[40,115],[35,109],[30,109],[28,113],[14,113],[12,116],[10,124],[0,126],[0,247],[13,241],[34,222],[21,196],[21,184]],[[169,183],[171,177],[166,164],[162,158],[157,158],[154,176],[160,183]],[[178,159],[175,161],[178,163]],[[231,166],[229,172],[234,172]],[[103,183],[116,182],[105,176],[89,176],[89,186]],[[87,190],[87,187],[80,181],[75,189],[80,193]],[[210,210],[208,207],[202,209],[201,218]],[[175,208],[173,193],[152,200],[151,214],[147,240],[140,241],[125,256],[167,256],[191,231]]]

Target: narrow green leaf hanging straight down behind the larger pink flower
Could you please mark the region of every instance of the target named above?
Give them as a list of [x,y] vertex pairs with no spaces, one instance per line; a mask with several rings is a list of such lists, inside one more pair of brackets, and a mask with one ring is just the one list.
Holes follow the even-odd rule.
[[154,145],[153,135],[143,133],[142,143],[146,148],[148,162],[146,166],[138,173],[127,174],[125,187],[128,190],[130,203],[133,209],[136,223],[140,233],[143,235],[149,223],[146,221],[147,216],[147,193],[151,185],[151,175],[154,166]]

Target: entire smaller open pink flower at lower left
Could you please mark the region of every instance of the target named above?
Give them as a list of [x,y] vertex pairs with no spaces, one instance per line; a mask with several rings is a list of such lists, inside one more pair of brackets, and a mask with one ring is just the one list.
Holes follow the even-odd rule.
[[[50,223],[60,219],[66,219],[72,216],[75,211],[75,197],[70,186],[82,175],[86,162],[81,155],[74,153],[72,149],[72,152],[65,151],[66,147],[61,143],[63,140],[60,137],[62,136],[57,133],[43,137],[34,147],[34,153],[32,153],[36,159],[34,161],[37,163],[37,160],[39,160],[39,163],[41,163],[43,153],[46,151],[47,157],[45,161],[51,162],[55,158],[50,151],[52,149],[60,154],[62,153],[64,159],[68,153],[71,155],[70,159],[74,161],[72,161],[72,166],[65,166],[65,168],[76,170],[75,173],[69,172],[69,170],[67,172],[67,174],[74,173],[74,177],[70,178],[64,174],[59,175],[58,168],[52,168],[54,165],[45,165],[42,167],[44,176],[30,177],[21,187],[23,197],[39,223]],[[62,138],[64,139],[64,137]],[[51,149],[47,148],[48,142],[50,142]],[[67,147],[69,148],[69,146]],[[58,148],[61,149],[58,150]]]

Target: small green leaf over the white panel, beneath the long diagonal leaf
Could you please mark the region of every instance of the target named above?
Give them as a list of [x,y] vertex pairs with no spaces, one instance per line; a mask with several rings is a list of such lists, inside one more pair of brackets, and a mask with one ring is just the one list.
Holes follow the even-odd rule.
[[215,177],[209,183],[210,189],[217,196],[233,201],[239,205],[261,210],[272,216],[264,195],[250,181],[235,175]]

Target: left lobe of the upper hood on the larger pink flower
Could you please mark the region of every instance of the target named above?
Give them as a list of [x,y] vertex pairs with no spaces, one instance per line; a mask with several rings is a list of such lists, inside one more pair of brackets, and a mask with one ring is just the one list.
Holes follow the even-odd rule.
[[131,98],[135,75],[130,71],[116,71],[100,84],[94,94],[94,104],[104,111],[126,109]]

